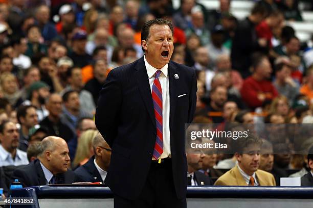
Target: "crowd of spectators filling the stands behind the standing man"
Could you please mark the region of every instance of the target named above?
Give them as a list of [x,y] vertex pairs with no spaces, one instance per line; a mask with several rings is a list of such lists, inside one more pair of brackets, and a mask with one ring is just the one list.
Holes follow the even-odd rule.
[[[1,0],[0,186],[10,184],[10,166],[21,165],[13,177],[25,186],[55,183],[59,173],[66,173],[63,183],[83,181],[90,167],[103,182],[111,150],[93,120],[99,91],[111,69],[143,56],[141,27],[153,18],[172,20],[172,60],[196,71],[195,123],[311,123],[313,48],[285,24],[302,21],[299,2],[254,2],[238,20],[231,0],[219,0],[216,10],[196,0],[182,0],[177,10],[171,0]],[[225,178],[241,174],[240,185],[275,186],[289,169],[301,177],[312,168],[306,155],[262,145],[267,151],[254,158],[187,154],[189,184],[213,185],[219,169],[231,169],[215,183],[230,185]],[[257,168],[242,165],[249,161]],[[40,167],[46,180],[25,180]]]

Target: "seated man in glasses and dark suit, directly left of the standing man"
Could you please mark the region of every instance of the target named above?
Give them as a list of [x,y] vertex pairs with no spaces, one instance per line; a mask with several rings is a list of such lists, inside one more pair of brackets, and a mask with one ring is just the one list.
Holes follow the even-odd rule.
[[111,148],[99,133],[93,139],[95,155],[83,166],[75,170],[75,174],[86,182],[104,183],[110,165]]

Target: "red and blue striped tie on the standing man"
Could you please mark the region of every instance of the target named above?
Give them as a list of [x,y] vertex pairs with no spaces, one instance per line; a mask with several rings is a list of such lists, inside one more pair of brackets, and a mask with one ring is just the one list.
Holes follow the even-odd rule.
[[155,115],[155,124],[157,124],[157,139],[155,140],[153,158],[157,160],[163,153],[163,116],[162,116],[162,88],[159,76],[162,71],[155,72],[155,79],[152,85],[152,100]]

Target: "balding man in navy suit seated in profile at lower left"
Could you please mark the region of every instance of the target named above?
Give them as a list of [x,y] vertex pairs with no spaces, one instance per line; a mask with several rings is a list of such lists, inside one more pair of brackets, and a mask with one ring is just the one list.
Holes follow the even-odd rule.
[[69,148],[60,137],[49,136],[40,144],[38,159],[24,168],[13,172],[12,180],[18,179],[23,187],[72,184],[78,181],[75,173],[69,170]]

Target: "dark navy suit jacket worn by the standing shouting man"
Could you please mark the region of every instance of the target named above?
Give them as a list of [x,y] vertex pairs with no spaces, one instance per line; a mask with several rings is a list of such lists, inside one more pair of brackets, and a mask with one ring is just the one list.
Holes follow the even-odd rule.
[[[176,79],[175,79],[176,77]],[[196,106],[196,75],[185,65],[169,62],[170,140],[173,184],[186,197],[185,123]],[[178,95],[183,95],[178,97]],[[149,78],[141,59],[113,69],[100,92],[96,126],[112,148],[105,184],[117,195],[135,199],[146,182],[157,137]]]

